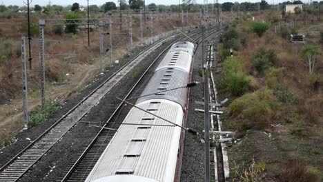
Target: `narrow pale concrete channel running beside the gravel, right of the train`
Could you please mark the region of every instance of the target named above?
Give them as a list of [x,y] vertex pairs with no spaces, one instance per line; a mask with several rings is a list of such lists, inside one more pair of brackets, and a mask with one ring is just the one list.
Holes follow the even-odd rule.
[[[215,65],[215,48],[214,46],[215,41],[213,41],[210,45],[208,45],[208,57],[206,61],[207,67],[211,68]],[[210,70],[210,78],[208,79],[209,82],[209,93],[210,93],[210,102],[211,103],[218,103],[217,101],[217,90],[215,87],[215,80],[213,77],[213,71]],[[211,107],[211,110],[217,111],[219,110],[219,107]],[[213,131],[222,131],[221,130],[221,120],[219,117],[219,114],[210,114],[210,121],[211,121],[211,130]],[[212,136],[212,140],[215,141],[215,136]],[[219,136],[220,139],[222,139],[222,135]],[[228,171],[228,156],[226,154],[226,144],[225,143],[215,143],[215,146],[210,150],[210,156],[213,156],[211,158],[211,171],[213,171],[212,176],[214,177],[215,181],[224,182],[226,181],[226,178],[229,176]]]

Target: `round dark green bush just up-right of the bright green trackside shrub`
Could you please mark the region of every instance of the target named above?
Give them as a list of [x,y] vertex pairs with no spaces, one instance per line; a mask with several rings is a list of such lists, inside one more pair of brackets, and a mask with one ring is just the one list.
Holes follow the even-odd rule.
[[253,56],[253,60],[251,61],[251,65],[257,72],[262,73],[267,68],[270,68],[275,64],[277,59],[277,55],[275,50],[265,50],[264,48],[260,48],[257,53]]

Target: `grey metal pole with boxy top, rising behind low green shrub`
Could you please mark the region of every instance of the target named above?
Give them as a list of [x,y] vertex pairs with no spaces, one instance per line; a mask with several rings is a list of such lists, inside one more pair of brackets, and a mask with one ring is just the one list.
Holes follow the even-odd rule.
[[41,77],[41,106],[42,108],[45,108],[45,48],[44,48],[44,39],[43,39],[43,28],[45,28],[45,20],[40,19],[39,20],[39,34],[40,34],[40,77]]

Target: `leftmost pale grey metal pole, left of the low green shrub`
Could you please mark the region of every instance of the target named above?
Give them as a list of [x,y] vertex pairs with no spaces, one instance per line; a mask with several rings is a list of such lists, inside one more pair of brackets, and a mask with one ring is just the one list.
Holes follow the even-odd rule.
[[28,97],[27,97],[27,68],[26,68],[26,38],[21,38],[21,58],[23,76],[23,129],[28,129]]

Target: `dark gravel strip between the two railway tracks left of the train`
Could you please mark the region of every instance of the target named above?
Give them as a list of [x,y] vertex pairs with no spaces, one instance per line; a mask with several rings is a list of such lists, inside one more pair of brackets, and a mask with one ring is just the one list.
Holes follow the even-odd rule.
[[[161,52],[166,48],[165,45],[161,45],[155,52]],[[112,112],[117,108],[120,103],[115,97],[124,98],[128,91],[135,85],[137,79],[146,70],[151,61],[157,57],[158,54],[150,54],[146,59],[141,61],[134,72],[129,72],[126,77],[121,79],[119,83],[109,92],[106,97],[94,107],[82,121],[101,122],[104,123],[111,116]],[[157,64],[155,64],[157,66]],[[150,72],[152,74],[153,72]],[[141,93],[144,88],[144,84],[147,83],[151,75],[147,75],[144,81],[141,81],[141,85],[134,93]],[[133,101],[135,103],[135,101]],[[126,117],[130,107],[124,107],[121,114],[117,119],[121,120]],[[114,121],[113,119],[112,121]],[[100,123],[93,123],[93,125],[100,125]],[[92,141],[95,135],[99,132],[99,128],[91,127],[88,123],[78,123],[73,130],[70,130],[68,134],[63,136],[61,141],[56,143],[53,148],[43,156],[41,161],[34,165],[29,172],[27,172],[20,181],[56,181],[61,179],[66,174],[72,163],[74,163],[76,156],[80,154],[80,151],[84,150],[86,146]]]

